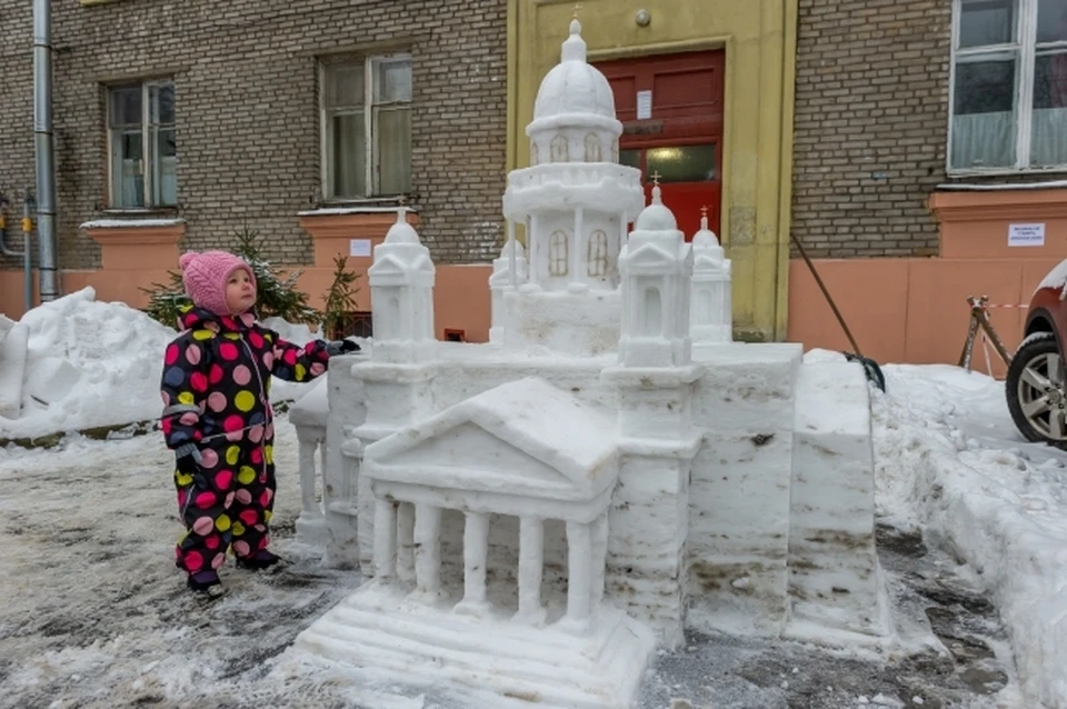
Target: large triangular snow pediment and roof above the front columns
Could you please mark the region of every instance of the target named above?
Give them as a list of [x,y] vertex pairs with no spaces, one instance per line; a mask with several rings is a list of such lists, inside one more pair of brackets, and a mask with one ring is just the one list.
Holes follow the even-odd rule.
[[371,443],[371,480],[587,501],[615,485],[612,419],[527,378],[490,389]]

